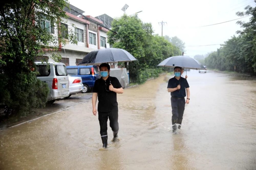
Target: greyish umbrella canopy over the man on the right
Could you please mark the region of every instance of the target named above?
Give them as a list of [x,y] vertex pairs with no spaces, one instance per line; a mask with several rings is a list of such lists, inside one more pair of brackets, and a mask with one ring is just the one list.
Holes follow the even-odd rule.
[[188,56],[173,56],[165,59],[157,66],[181,67],[183,69],[206,70],[206,68],[196,59]]

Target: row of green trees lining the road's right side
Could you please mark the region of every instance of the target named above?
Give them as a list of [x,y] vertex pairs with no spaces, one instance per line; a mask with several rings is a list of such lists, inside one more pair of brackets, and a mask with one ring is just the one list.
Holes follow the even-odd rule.
[[237,15],[251,15],[249,22],[238,21],[243,28],[237,31],[239,35],[232,36],[217,52],[205,58],[209,68],[256,74],[256,7],[247,6],[245,10]]

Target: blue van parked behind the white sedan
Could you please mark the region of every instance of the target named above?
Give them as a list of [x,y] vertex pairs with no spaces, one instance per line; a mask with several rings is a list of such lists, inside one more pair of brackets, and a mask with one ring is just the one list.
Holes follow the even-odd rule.
[[100,78],[97,66],[67,66],[68,74],[82,77],[83,93],[87,93],[94,86],[95,80]]

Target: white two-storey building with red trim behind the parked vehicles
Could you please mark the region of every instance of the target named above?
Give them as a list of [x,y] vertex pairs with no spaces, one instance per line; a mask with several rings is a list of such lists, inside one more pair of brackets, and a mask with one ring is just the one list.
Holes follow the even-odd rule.
[[[67,28],[67,32],[72,29],[77,37],[77,44],[72,44],[66,40],[66,44],[59,43],[61,62],[66,66],[76,66],[86,54],[93,50],[110,48],[107,43],[107,32],[109,29],[104,26],[103,21],[92,16],[84,16],[83,10],[69,5],[65,8],[67,19],[63,19],[60,24]],[[72,27],[74,25],[74,27]],[[57,34],[56,32],[54,34]],[[50,57],[49,61],[52,61]],[[115,66],[111,66],[114,68]]]

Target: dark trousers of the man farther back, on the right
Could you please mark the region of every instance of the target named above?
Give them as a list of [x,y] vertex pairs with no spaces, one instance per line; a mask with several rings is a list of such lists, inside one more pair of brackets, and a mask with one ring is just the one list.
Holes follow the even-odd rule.
[[185,98],[171,97],[172,119],[182,119],[185,110]]

